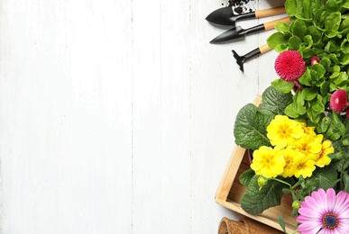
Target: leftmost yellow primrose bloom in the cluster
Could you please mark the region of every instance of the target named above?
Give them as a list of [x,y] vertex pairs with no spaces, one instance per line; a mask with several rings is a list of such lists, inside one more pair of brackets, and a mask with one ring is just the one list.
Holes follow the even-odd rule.
[[285,166],[285,159],[279,149],[262,146],[253,151],[253,163],[251,168],[256,175],[271,178],[280,175]]

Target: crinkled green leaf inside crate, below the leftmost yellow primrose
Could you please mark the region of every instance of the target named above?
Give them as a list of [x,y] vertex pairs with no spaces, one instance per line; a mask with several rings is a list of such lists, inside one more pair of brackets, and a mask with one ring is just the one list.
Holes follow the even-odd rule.
[[267,184],[258,186],[258,176],[254,175],[250,184],[247,187],[241,200],[241,207],[244,211],[250,214],[261,214],[268,208],[280,205],[282,197],[282,189],[286,187],[285,184],[269,180]]

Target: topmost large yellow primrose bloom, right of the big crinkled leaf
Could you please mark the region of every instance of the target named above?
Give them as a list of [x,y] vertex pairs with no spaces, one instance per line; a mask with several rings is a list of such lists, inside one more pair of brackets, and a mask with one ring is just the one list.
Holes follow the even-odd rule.
[[292,144],[294,139],[304,135],[304,130],[298,121],[290,120],[286,115],[276,115],[268,125],[267,131],[271,145],[279,148],[285,148],[288,144]]

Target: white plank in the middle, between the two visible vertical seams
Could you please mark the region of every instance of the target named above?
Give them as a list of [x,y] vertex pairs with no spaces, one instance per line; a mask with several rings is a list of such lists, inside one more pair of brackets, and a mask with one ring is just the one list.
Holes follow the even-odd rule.
[[133,232],[189,233],[189,4],[133,3]]

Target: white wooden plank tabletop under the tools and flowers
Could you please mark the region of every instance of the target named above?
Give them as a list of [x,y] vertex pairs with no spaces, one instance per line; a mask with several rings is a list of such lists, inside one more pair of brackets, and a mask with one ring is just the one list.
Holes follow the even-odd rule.
[[237,218],[216,187],[276,53],[242,73],[231,49],[271,32],[209,44],[222,3],[0,2],[0,233],[211,234]]

